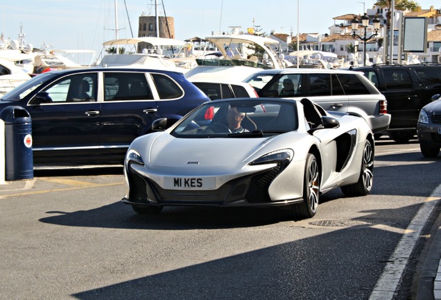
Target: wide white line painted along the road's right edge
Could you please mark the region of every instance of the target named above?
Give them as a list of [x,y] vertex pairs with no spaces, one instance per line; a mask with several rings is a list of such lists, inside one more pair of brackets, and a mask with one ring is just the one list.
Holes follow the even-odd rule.
[[394,297],[395,290],[403,276],[410,253],[412,253],[418,238],[420,238],[422,229],[440,200],[441,185],[438,185],[431,194],[431,197],[424,201],[424,204],[420,210],[418,210],[415,217],[413,217],[406,231],[404,231],[397,248],[395,248],[394,253],[392,253],[392,256],[389,258],[391,263],[386,265],[377,285],[375,285],[374,290],[372,290],[370,300],[391,300]]

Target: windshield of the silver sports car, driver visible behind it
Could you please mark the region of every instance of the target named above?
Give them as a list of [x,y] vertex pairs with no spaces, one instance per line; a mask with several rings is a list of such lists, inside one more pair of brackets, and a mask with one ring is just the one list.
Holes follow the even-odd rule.
[[194,110],[171,132],[176,138],[259,138],[295,131],[294,102],[211,101]]

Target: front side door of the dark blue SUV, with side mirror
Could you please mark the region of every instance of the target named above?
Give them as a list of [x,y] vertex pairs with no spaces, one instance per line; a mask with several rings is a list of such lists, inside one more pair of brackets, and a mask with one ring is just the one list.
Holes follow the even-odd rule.
[[[96,92],[96,72],[71,74],[30,99],[26,109],[32,117],[35,158],[50,160],[98,151],[100,104]],[[42,95],[45,101],[41,101]]]

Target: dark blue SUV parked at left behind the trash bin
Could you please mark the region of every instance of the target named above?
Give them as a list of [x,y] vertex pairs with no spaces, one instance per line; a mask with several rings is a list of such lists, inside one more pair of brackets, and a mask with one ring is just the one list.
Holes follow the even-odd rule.
[[183,74],[156,69],[65,69],[40,74],[1,97],[0,111],[31,115],[40,164],[123,163],[132,140],[160,117],[179,118],[209,101]]

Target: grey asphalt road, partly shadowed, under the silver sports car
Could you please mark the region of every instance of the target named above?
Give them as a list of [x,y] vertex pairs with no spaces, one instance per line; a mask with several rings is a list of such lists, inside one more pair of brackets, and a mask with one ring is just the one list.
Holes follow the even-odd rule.
[[36,170],[0,185],[0,299],[375,299],[399,262],[394,299],[413,299],[438,200],[410,256],[394,253],[441,183],[441,156],[416,141],[376,148],[372,194],[331,191],[304,220],[277,208],[137,215],[119,202],[121,167]]

